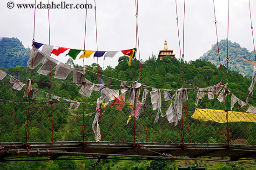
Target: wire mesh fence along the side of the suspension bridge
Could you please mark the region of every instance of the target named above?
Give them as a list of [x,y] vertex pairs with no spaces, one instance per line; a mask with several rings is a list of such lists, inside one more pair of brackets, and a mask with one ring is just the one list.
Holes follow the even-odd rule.
[[[89,84],[78,86],[70,82],[34,81],[31,94],[24,97],[25,88],[20,91],[14,89],[13,82],[3,79],[0,82],[0,142],[25,142],[24,137],[28,137],[29,142],[94,141],[96,129],[101,141],[130,142],[135,139],[136,142],[158,143],[182,143],[182,140],[185,143],[228,143],[230,139],[233,144],[256,145],[256,115],[253,109],[248,112],[256,98],[254,95],[246,104],[242,101],[246,101],[248,94],[229,92],[228,102],[227,95],[220,102],[217,98],[222,92],[209,100],[206,90],[196,107],[199,90],[190,89],[188,100],[183,103],[182,116],[175,126],[175,122],[169,122],[165,115],[175,99],[165,101],[163,90],[162,116],[160,113],[159,120],[154,122],[158,110],[152,108],[150,93],[145,105],[137,106],[140,107],[140,115],[135,118],[132,115],[133,105],[128,102],[130,91],[121,91],[124,86],[105,85],[104,88],[118,90],[118,94],[109,93],[108,101],[100,101],[103,88],[99,93]],[[82,88],[85,95],[79,93]],[[142,99],[142,92],[143,88],[138,101]],[[125,103],[116,104],[115,100],[121,94]],[[175,94],[175,91],[170,91],[170,94]],[[231,101],[234,105],[232,111]],[[117,106],[123,108],[117,109]]]

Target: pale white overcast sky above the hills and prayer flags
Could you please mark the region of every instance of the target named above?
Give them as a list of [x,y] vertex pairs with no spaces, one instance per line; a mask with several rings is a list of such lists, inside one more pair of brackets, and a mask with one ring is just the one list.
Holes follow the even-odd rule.
[[[9,2],[14,4],[12,9]],[[36,0],[36,4],[47,4],[47,0]],[[86,0],[49,0],[49,3],[85,4]],[[0,1],[0,37],[19,38],[27,48],[32,40],[73,49],[86,50],[127,50],[136,45],[136,11],[135,0],[88,0],[93,8],[87,10],[85,36],[85,9],[50,9],[50,40],[48,10],[18,9],[17,4],[34,4],[34,0],[1,0]],[[256,1],[250,1],[252,25],[256,25]],[[228,0],[215,0],[218,39],[227,38]],[[177,0],[178,22],[181,45],[183,43],[184,0]],[[167,40],[168,49],[174,50],[176,58],[180,57],[179,38],[176,20],[175,0],[139,0],[138,4],[138,37],[140,57],[143,61],[158,55]],[[184,25],[184,60],[196,60],[216,44],[213,0],[186,0]],[[254,34],[256,35],[256,26]],[[230,0],[229,2],[229,40],[240,44],[249,51],[253,50],[249,0]],[[256,42],[255,42],[256,43]],[[183,49],[181,49],[183,50]],[[54,57],[65,63],[66,53]],[[101,67],[115,67],[121,52],[114,58],[99,58]],[[139,57],[137,53],[137,58]],[[76,59],[76,64],[83,64]],[[89,57],[85,64],[97,63]]]

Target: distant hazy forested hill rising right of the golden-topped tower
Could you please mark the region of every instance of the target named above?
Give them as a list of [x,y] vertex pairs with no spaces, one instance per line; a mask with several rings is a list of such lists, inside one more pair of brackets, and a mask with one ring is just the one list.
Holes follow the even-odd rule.
[[[221,40],[219,42],[221,64],[227,66],[227,40]],[[246,48],[242,48],[238,43],[232,43],[229,41],[229,69],[235,70],[243,76],[252,76],[253,66],[243,61],[241,58],[235,55],[255,62],[255,55],[253,51],[249,51]],[[212,48],[205,53],[202,57],[203,60],[214,63],[219,67],[219,55],[217,43],[212,45]]]

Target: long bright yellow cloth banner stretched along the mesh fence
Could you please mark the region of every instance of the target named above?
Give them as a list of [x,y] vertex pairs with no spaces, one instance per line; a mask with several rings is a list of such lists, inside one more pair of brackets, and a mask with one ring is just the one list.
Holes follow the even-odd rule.
[[[254,122],[256,123],[256,113],[228,111],[229,122]],[[226,112],[224,110],[200,109],[196,108],[191,116],[193,119],[208,121],[212,120],[218,123],[226,123]]]

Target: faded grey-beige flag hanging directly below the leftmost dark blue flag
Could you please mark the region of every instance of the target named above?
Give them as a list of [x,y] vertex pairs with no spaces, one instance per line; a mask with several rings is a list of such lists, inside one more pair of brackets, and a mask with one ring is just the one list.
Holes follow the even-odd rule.
[[[40,50],[37,50],[34,46],[33,48],[29,51],[29,60],[27,61],[27,65],[29,68],[33,69],[36,68],[40,63],[44,62],[46,60],[45,57],[46,54],[42,53]],[[32,64],[33,61],[33,64]]]

